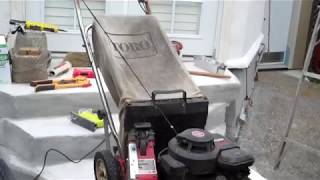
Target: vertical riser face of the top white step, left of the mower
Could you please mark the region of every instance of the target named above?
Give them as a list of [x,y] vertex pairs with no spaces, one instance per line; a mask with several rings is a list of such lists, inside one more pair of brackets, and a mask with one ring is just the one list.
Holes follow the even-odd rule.
[[[10,96],[9,96],[10,97]],[[111,97],[108,97],[111,111],[118,112]],[[7,98],[8,106],[0,108],[0,115],[14,119],[63,116],[81,108],[101,109],[101,101],[97,93],[83,94],[45,94],[17,96]]]

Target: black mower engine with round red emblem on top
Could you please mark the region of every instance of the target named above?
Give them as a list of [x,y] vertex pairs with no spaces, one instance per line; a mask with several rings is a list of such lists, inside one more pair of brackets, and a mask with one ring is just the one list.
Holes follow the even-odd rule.
[[221,135],[187,129],[169,141],[159,161],[166,180],[242,180],[254,158]]

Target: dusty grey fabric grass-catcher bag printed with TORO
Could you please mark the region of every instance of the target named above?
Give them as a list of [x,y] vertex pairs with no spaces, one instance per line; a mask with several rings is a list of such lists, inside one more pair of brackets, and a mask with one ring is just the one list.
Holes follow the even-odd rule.
[[[183,89],[188,98],[203,96],[155,17],[101,16],[98,21],[105,31],[111,33],[112,41],[148,92]],[[121,106],[150,100],[97,22],[93,24],[92,41],[95,59],[116,104]],[[166,95],[161,98],[173,97]]]

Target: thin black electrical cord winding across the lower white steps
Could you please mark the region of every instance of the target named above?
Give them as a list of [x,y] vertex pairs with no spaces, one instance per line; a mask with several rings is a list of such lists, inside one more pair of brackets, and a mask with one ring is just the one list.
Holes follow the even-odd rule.
[[48,158],[49,152],[54,151],[54,152],[62,155],[64,158],[66,158],[67,160],[69,160],[72,163],[80,163],[83,159],[87,158],[91,153],[93,153],[95,150],[97,150],[104,143],[104,141],[105,141],[105,139],[103,139],[98,145],[96,145],[94,148],[92,148],[87,154],[82,156],[79,160],[71,159],[69,156],[67,156],[65,153],[61,152],[58,149],[55,149],[55,148],[48,149],[46,151],[45,156],[44,156],[44,160],[43,160],[41,171],[33,178],[33,180],[38,180],[40,178],[41,174],[43,173],[43,171],[44,171],[44,169],[46,167],[46,163],[47,163],[47,158]]

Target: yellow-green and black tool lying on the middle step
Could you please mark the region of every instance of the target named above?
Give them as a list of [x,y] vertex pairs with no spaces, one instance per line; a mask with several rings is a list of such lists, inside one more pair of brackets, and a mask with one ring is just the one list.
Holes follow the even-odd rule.
[[93,109],[80,109],[78,113],[71,112],[71,122],[94,132],[97,128],[104,127],[99,111]]

